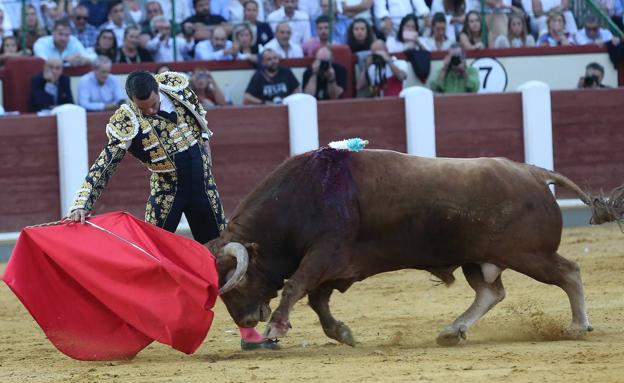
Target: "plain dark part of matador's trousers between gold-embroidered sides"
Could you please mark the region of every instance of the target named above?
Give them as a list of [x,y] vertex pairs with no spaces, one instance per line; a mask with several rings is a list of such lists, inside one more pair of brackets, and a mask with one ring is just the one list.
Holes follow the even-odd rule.
[[175,232],[184,213],[193,238],[199,243],[206,243],[219,236],[219,228],[206,194],[201,151],[201,147],[197,144],[175,154],[178,182],[175,199],[163,229]]

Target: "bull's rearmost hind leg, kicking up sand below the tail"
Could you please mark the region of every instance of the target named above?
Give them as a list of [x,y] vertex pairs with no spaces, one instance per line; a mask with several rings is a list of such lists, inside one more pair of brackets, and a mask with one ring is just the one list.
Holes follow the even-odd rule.
[[581,270],[576,262],[565,259],[558,253],[522,254],[516,259],[521,262],[510,265],[510,269],[540,282],[559,286],[568,295],[572,309],[571,334],[582,335],[593,330],[587,317]]

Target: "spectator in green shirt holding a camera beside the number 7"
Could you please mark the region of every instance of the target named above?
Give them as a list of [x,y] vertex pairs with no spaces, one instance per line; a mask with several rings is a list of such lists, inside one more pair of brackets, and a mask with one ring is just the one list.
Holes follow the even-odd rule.
[[451,45],[442,68],[430,86],[432,91],[438,93],[476,93],[479,90],[479,72],[466,66],[461,44]]

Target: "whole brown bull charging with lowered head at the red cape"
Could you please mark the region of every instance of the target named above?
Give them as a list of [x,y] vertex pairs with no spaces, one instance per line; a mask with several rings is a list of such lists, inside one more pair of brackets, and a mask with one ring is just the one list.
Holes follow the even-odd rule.
[[294,304],[307,295],[325,334],[354,345],[351,330],[330,312],[334,289],[399,269],[426,270],[450,284],[458,267],[475,300],[442,330],[439,344],[465,338],[503,300],[505,269],[561,287],[572,328],[590,331],[579,267],[557,253],[562,218],[548,184],[573,190],[591,206],[593,223],[624,211],[621,190],[590,197],[560,174],[507,159],[324,148],[279,166],[207,246],[239,326],[268,320],[269,301],[283,287],[268,337],[286,335]]

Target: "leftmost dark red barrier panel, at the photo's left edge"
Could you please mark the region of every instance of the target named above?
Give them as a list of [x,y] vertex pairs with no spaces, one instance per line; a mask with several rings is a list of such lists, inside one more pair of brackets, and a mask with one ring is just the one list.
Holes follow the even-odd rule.
[[56,117],[0,121],[0,232],[59,219]]

